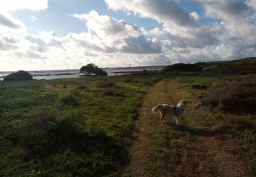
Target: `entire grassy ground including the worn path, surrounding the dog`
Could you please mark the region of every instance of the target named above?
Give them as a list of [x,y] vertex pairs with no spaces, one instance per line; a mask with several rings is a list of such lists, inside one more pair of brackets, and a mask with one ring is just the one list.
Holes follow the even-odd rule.
[[[0,82],[0,176],[254,176],[255,61]],[[180,99],[184,125],[161,124]]]

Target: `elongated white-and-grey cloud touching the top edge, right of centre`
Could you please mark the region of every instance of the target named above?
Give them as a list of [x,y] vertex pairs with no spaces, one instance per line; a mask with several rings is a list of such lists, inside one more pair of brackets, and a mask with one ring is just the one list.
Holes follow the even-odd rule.
[[139,14],[139,16],[154,18],[158,22],[166,24],[175,24],[178,26],[195,27],[197,20],[195,14],[193,16],[188,14],[185,10],[179,7],[176,1],[167,0],[105,0],[106,4],[112,10],[124,10],[125,12],[132,12]]

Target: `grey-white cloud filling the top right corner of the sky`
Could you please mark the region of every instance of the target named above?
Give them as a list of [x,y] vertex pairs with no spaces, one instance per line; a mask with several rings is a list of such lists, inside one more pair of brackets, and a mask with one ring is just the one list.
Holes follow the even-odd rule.
[[205,9],[205,15],[222,20],[221,24],[227,29],[229,35],[248,37],[255,34],[256,13],[253,9],[255,1],[246,1],[246,3],[238,0],[200,2]]

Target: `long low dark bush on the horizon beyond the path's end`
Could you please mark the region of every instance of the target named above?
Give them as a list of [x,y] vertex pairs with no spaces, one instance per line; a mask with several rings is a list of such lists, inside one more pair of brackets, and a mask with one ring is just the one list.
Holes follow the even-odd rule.
[[174,65],[169,65],[162,69],[162,71],[201,71],[202,67],[195,64],[184,64],[177,63]]

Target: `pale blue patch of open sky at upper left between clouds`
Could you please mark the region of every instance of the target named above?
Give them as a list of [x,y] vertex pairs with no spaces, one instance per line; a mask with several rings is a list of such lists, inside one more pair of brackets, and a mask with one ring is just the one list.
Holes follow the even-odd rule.
[[[124,12],[108,10],[104,0],[49,0],[48,6],[47,10],[17,10],[12,12],[12,15],[23,21],[25,25],[27,25],[27,29],[30,33],[54,29],[57,33],[66,35],[70,32],[81,33],[83,31],[87,31],[86,25],[80,20],[72,18],[70,14],[87,14],[91,12],[91,10],[95,10],[98,14],[111,16],[117,19],[124,19],[127,23],[133,23],[137,26],[145,27],[147,30],[162,26],[150,18],[138,18],[138,16],[134,16],[134,14],[126,15]],[[184,7],[188,6],[189,5],[184,3]],[[188,7],[188,9],[190,9],[190,7]],[[30,17],[31,15],[36,16],[39,20],[37,22],[32,22]]]

